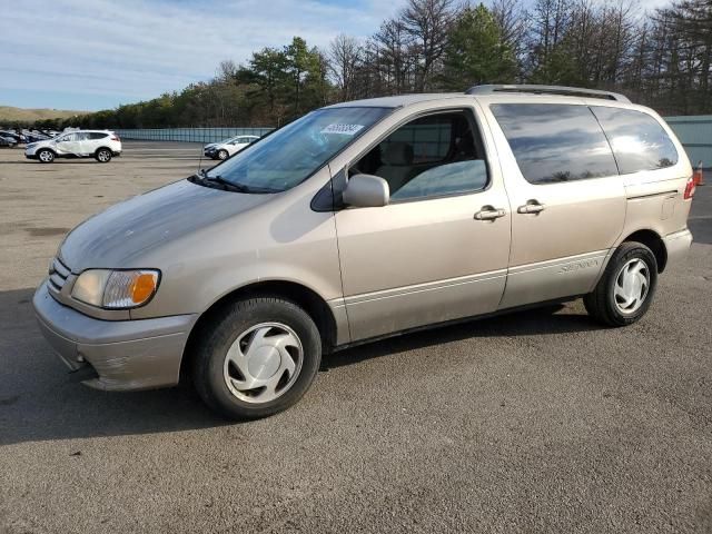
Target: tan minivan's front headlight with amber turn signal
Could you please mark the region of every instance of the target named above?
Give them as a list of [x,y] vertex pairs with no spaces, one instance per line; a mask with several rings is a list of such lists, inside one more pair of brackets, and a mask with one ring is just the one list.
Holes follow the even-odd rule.
[[79,275],[71,296],[100,308],[136,308],[156,294],[159,275],[152,269],[89,269]]

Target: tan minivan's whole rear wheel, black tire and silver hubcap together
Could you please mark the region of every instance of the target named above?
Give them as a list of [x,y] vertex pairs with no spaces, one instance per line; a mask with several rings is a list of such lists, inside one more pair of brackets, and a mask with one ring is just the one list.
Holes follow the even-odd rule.
[[624,243],[583,303],[600,323],[627,326],[645,315],[656,285],[657,261],[652,250],[642,243]]

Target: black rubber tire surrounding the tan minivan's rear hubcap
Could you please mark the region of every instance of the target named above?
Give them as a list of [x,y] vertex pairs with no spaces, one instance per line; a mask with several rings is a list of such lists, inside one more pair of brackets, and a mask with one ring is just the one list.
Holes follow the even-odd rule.
[[[647,267],[647,291],[642,304],[630,313],[621,310],[616,304],[615,287],[623,267],[632,260],[642,260]],[[640,320],[650,308],[657,286],[657,261],[655,255],[642,243],[623,243],[613,253],[603,276],[593,293],[583,298],[586,312],[599,323],[607,326],[627,326]]]

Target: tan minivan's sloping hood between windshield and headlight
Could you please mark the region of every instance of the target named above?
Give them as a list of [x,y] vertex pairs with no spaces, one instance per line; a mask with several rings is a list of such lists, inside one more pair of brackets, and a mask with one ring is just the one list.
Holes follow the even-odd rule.
[[148,268],[148,251],[268,201],[273,195],[246,195],[177,181],[130,198],[81,222],[60,246],[72,273],[88,268]]

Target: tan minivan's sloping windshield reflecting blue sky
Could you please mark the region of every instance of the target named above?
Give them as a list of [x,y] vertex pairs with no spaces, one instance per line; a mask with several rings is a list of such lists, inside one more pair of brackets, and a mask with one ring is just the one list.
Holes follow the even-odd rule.
[[214,167],[207,176],[253,190],[285,191],[312,176],[388,111],[387,108],[313,111]]

